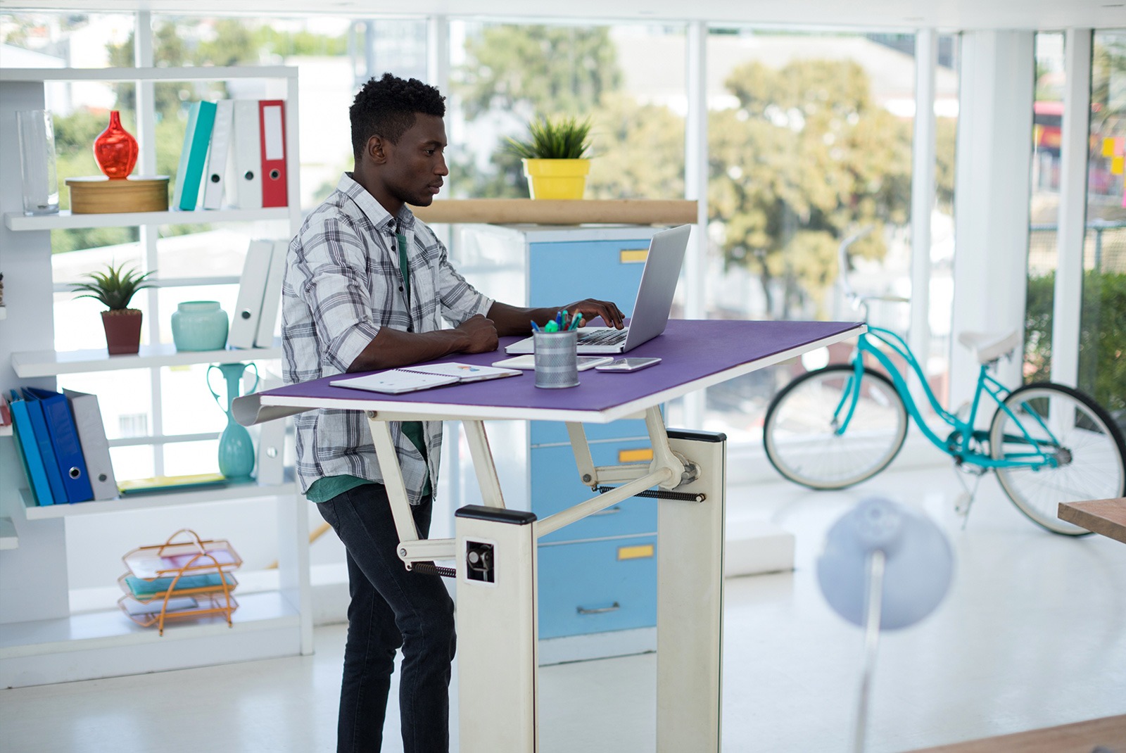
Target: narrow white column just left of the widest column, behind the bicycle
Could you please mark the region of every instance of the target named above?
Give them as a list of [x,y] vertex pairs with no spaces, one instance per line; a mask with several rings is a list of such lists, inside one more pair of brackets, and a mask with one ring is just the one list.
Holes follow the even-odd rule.
[[[908,344],[923,373],[930,357],[930,214],[935,207],[935,70],[938,35],[915,33],[915,117],[911,165],[911,328]],[[915,403],[927,400],[912,376]]]

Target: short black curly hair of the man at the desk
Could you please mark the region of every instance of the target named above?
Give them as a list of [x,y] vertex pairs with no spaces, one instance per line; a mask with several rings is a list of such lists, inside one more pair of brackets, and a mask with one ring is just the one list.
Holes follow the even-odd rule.
[[443,117],[446,115],[446,98],[435,87],[418,79],[403,80],[391,73],[384,73],[378,81],[369,79],[348,109],[356,162],[359,162],[372,136],[383,136],[397,144],[414,125],[415,113]]

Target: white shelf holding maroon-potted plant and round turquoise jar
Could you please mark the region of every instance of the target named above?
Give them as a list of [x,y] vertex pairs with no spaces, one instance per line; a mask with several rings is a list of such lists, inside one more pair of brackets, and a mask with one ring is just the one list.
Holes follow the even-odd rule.
[[[275,342],[277,342],[275,340]],[[177,351],[171,342],[141,346],[141,351],[129,356],[110,356],[105,348],[93,350],[30,350],[11,355],[11,367],[21,379],[144,369],[159,366],[188,366],[191,364],[235,364],[282,358],[282,348],[251,348],[250,350],[184,350]]]

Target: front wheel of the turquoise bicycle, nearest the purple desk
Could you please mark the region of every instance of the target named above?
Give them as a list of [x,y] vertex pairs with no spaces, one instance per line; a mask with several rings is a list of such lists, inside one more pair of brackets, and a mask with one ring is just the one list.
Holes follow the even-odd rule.
[[908,412],[891,380],[865,369],[852,403],[856,373],[846,364],[794,379],[767,409],[762,440],[778,473],[812,488],[844,488],[875,476],[903,447]]

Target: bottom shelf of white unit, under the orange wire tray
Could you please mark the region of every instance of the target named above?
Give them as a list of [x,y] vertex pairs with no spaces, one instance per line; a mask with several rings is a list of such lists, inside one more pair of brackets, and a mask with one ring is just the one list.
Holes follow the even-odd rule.
[[275,630],[298,626],[297,610],[277,591],[235,595],[239,609],[231,616],[230,627],[224,617],[169,621],[163,637],[157,628],[141,627],[119,609],[0,625],[0,660],[204,638],[230,635],[232,630]]

